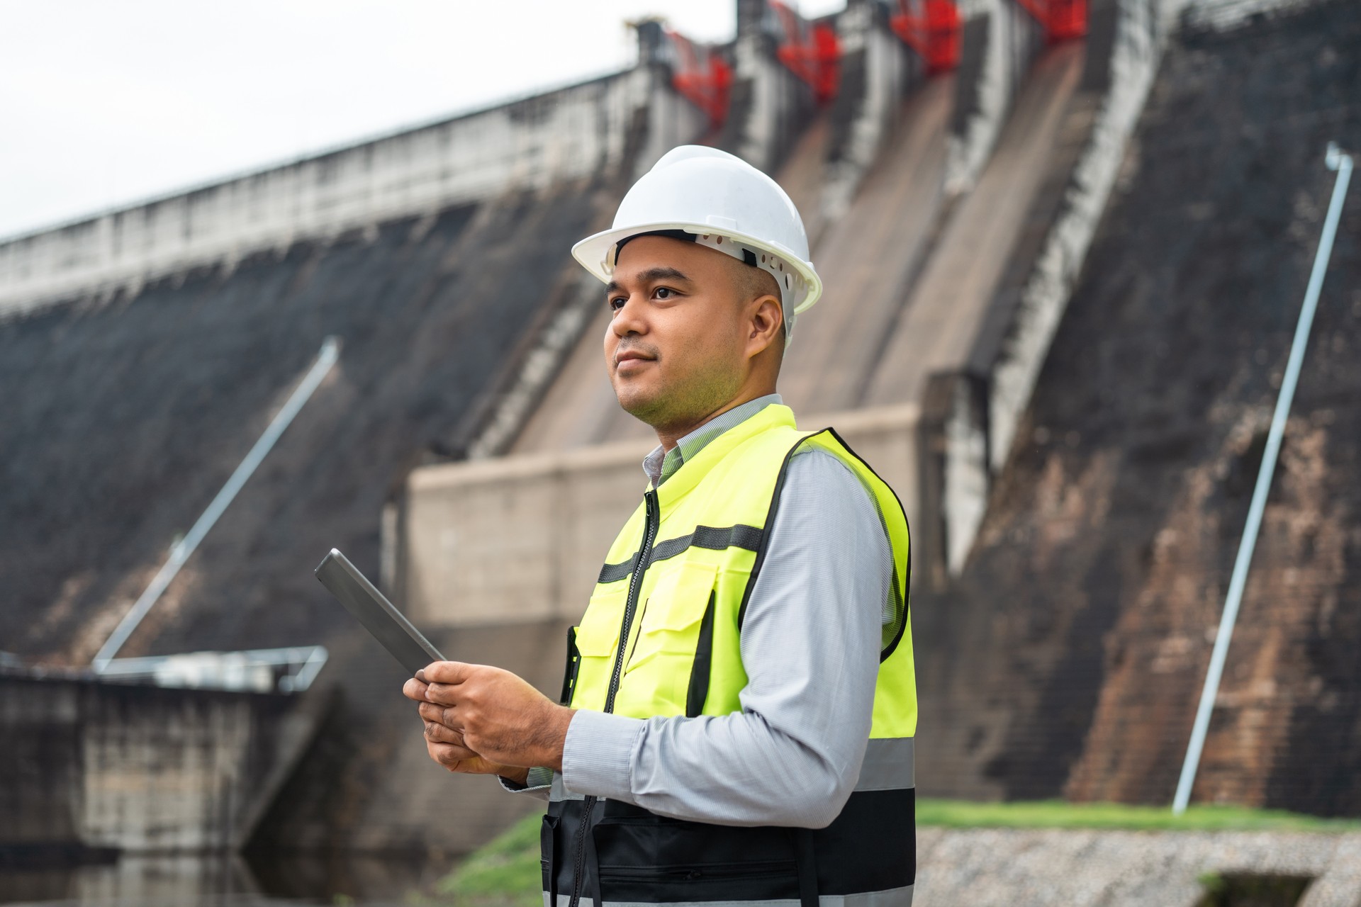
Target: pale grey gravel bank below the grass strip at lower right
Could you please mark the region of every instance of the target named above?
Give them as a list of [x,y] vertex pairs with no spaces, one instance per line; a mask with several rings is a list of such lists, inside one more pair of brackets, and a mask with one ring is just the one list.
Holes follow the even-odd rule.
[[1312,876],[1300,907],[1361,906],[1361,834],[917,832],[916,907],[1192,907],[1204,873]]

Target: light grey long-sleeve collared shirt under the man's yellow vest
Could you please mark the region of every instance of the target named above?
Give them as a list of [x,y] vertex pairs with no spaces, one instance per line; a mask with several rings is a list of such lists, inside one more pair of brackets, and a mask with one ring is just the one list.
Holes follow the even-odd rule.
[[[706,443],[769,404],[749,401],[644,461],[664,483]],[[834,456],[789,461],[766,559],[747,601],[742,711],[698,718],[572,718],[561,783],[663,816],[724,825],[818,828],[860,774],[879,669],[893,555],[872,495]],[[547,797],[550,776],[528,787]]]

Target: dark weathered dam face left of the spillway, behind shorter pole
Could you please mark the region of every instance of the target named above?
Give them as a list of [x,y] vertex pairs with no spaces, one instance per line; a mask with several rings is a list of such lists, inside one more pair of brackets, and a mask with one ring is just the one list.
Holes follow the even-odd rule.
[[339,547],[378,575],[384,502],[422,451],[463,443],[460,420],[576,276],[595,189],[299,242],[0,325],[0,650],[87,661],[331,333],[335,371],[122,654],[348,631],[312,567]]

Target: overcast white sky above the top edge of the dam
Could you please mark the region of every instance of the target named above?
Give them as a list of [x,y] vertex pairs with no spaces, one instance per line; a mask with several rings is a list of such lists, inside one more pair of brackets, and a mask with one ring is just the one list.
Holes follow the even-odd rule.
[[727,41],[735,5],[0,0],[0,238],[621,69],[644,15]]

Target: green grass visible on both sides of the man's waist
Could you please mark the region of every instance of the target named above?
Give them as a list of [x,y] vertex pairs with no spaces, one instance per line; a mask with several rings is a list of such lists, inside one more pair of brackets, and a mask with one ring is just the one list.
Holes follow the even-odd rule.
[[[438,884],[438,903],[455,907],[535,907],[539,893],[538,813],[525,816],[468,857]],[[1361,831],[1361,820],[1317,819],[1277,809],[1191,806],[1173,817],[1168,806],[1070,804],[1040,800],[981,804],[919,800],[917,825],[939,828],[1101,828],[1123,831]]]

